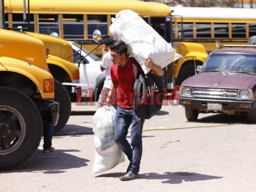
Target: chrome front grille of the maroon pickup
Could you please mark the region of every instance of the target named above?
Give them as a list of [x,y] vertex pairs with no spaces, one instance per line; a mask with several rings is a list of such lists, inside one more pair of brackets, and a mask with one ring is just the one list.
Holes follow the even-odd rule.
[[237,99],[237,90],[230,89],[193,89],[194,98]]

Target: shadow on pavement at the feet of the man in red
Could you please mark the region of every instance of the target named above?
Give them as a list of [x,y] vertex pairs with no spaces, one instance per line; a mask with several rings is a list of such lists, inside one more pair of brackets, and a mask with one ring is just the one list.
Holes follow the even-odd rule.
[[[119,178],[124,173],[106,173],[102,175],[98,175],[97,177],[113,177]],[[97,178],[96,177],[96,178]],[[166,172],[165,175],[158,174],[158,173],[143,173],[139,174],[139,179],[146,179],[146,180],[163,180],[162,183],[167,184],[180,184],[183,181],[192,182],[198,180],[216,180],[221,179],[223,177],[211,176],[211,175],[203,175],[199,173],[190,173],[190,172]]]

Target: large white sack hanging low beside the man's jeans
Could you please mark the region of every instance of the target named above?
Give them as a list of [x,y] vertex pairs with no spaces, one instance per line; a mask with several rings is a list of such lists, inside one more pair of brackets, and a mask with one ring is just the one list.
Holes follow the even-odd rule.
[[93,173],[101,173],[124,162],[124,153],[114,138],[116,109],[102,106],[93,116],[94,143],[96,147]]

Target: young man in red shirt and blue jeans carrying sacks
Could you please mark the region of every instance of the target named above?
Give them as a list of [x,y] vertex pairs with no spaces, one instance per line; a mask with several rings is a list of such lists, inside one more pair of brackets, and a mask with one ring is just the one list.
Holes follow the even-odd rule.
[[[110,68],[112,85],[106,98],[109,104],[111,97],[118,88],[117,111],[114,124],[114,136],[117,144],[130,160],[126,174],[120,180],[134,180],[138,178],[142,156],[142,129],[144,119],[138,118],[133,109],[134,94],[134,58],[127,57],[127,46],[123,41],[118,41],[110,46],[110,55],[113,65]],[[145,65],[151,68],[151,73],[162,76],[163,70],[155,65],[150,58],[146,58]],[[138,74],[143,71],[138,68]],[[129,126],[131,127],[131,144],[126,139]]]

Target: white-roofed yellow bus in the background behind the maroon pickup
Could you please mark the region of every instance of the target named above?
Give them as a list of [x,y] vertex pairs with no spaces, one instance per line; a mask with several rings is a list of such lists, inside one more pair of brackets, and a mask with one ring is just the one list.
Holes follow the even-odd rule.
[[256,11],[249,8],[170,7],[174,41],[201,43],[207,52],[222,45],[248,44],[256,36]]

